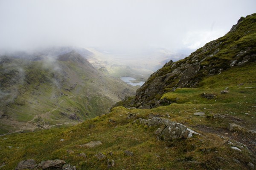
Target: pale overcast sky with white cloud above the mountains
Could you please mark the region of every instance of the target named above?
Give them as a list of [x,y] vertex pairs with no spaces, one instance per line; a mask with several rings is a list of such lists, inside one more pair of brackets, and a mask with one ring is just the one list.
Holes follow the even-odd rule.
[[256,0],[0,0],[0,49],[197,49],[254,12]]

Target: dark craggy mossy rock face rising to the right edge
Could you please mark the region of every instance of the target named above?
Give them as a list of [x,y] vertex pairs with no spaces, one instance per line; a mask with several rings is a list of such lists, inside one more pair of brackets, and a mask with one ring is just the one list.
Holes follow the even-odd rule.
[[[169,61],[154,72],[125,107],[153,108],[165,101],[165,91],[196,87],[202,78],[221,74],[233,66],[256,61],[256,14],[241,17],[223,37],[207,43],[183,60]],[[127,101],[129,100],[129,101]],[[120,103],[121,104],[121,103]],[[127,106],[126,106],[127,104]]]

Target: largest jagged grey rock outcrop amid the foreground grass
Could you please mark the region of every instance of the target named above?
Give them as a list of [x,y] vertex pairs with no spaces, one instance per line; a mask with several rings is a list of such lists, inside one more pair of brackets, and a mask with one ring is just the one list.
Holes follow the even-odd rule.
[[157,135],[158,139],[163,141],[172,141],[174,139],[181,138],[186,139],[191,138],[192,135],[200,135],[199,133],[196,133],[195,131],[187,128],[183,124],[158,117],[153,117],[152,119],[147,120],[139,118],[135,120],[134,123],[145,124],[148,127],[162,127],[158,128],[154,134]]

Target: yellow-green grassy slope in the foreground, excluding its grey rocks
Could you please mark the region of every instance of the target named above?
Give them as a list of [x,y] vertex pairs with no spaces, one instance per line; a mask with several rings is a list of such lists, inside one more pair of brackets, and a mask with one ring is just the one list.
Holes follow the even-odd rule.
[[[154,109],[126,109],[115,107],[105,114],[74,127],[52,128],[34,133],[12,134],[0,137],[1,170],[14,169],[19,161],[35,159],[63,159],[78,170],[109,169],[107,161],[114,160],[110,169],[229,169],[247,170],[256,164],[256,63],[233,67],[204,78],[198,88],[165,89],[160,98],[174,103]],[[228,87],[228,93],[221,91]],[[205,95],[213,95],[212,99]],[[204,112],[205,116],[194,115]],[[174,141],[157,140],[159,127],[134,123],[137,118],[158,116],[184,124],[201,135]],[[230,123],[241,127],[228,130]],[[64,141],[60,141],[64,139]],[[231,146],[239,141],[246,144],[241,151]],[[93,148],[79,145],[101,141]],[[230,145],[230,142],[233,144]],[[9,147],[10,146],[10,147]],[[125,150],[133,152],[126,156]],[[110,154],[110,152],[112,154]],[[77,156],[85,153],[86,158]],[[97,153],[106,158],[98,160]],[[15,156],[13,156],[15,155]]]

